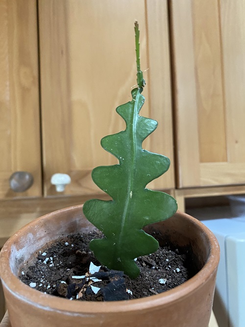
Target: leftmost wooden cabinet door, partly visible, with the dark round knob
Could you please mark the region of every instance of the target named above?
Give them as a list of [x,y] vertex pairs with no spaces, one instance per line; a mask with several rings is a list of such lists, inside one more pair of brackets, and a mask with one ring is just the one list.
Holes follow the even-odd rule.
[[[0,198],[41,196],[37,7],[0,0]],[[25,192],[9,187],[13,172],[34,178]]]

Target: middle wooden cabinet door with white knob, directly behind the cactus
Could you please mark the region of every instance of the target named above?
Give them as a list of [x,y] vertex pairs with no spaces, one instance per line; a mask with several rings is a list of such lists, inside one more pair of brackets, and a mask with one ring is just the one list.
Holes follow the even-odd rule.
[[151,184],[174,187],[172,104],[166,0],[40,0],[40,60],[45,194],[54,173],[67,173],[66,194],[96,194],[98,165],[116,164],[100,139],[125,128],[116,107],[136,84],[134,21],[141,30],[147,86],[141,114],[158,120],[144,147],[167,155],[171,169]]

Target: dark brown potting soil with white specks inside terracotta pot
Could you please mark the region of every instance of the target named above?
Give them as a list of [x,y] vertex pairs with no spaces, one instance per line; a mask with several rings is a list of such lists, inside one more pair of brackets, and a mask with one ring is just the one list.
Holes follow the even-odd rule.
[[103,266],[98,273],[89,273],[91,261],[100,266],[89,250],[89,242],[98,237],[102,237],[99,231],[75,234],[42,248],[32,263],[25,263],[20,279],[41,292],[70,300],[127,300],[170,290],[198,271],[190,247],[166,243],[136,260],[141,270],[136,279]]

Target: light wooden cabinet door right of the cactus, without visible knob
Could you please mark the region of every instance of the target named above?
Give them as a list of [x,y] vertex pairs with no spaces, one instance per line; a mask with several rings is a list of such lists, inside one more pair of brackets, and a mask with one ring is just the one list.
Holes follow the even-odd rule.
[[245,183],[245,1],[171,1],[178,187]]

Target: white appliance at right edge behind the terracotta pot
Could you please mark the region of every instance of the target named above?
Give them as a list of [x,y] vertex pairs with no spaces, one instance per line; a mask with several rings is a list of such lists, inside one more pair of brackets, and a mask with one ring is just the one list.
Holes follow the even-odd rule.
[[245,327],[245,217],[234,218],[230,207],[192,209],[218,239],[221,260],[213,310],[220,327]]

